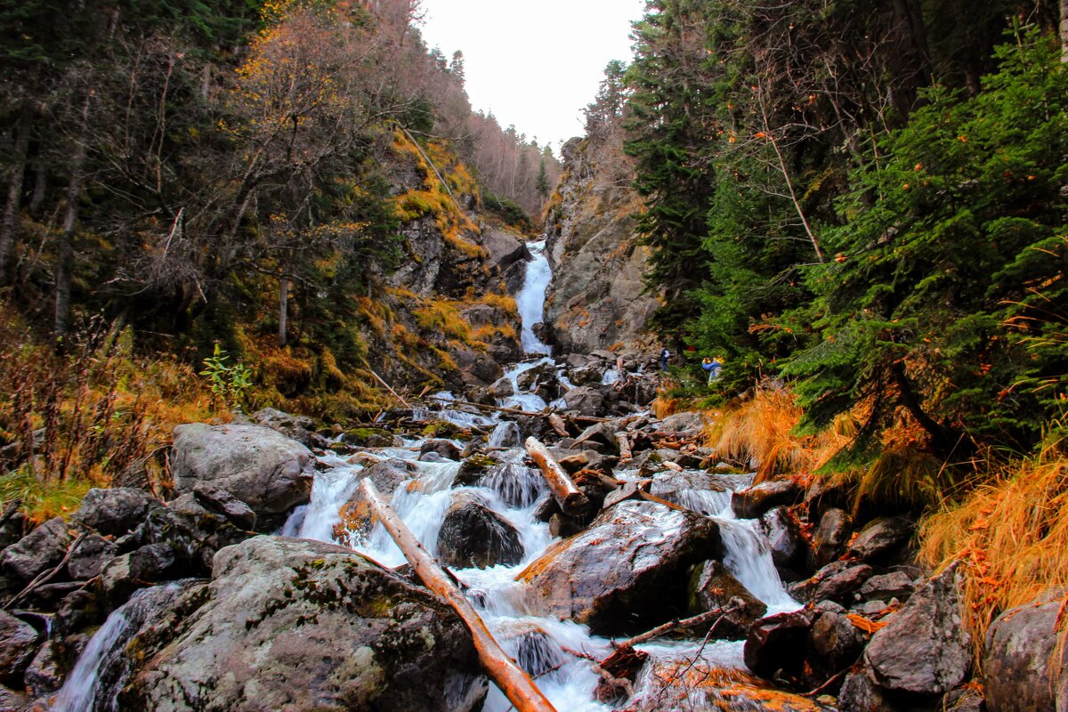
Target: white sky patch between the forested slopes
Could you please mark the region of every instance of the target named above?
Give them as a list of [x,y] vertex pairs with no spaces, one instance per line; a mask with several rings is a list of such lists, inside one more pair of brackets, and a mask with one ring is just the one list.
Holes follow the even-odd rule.
[[644,0],[423,0],[429,47],[464,52],[471,106],[503,128],[560,144],[582,136],[610,60],[630,63],[630,21]]

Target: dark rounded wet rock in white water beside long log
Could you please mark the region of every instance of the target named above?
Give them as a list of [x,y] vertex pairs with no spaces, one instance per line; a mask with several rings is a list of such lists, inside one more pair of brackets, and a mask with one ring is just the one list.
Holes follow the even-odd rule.
[[441,560],[457,569],[514,566],[523,557],[519,532],[470,492],[453,495],[438,533]]

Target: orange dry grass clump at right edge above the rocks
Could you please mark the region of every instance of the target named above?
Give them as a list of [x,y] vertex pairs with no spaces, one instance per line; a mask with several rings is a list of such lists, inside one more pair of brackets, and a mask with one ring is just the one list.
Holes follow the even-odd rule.
[[[1046,456],[993,473],[962,503],[929,516],[921,541],[925,564],[961,563],[965,624],[978,660],[999,614],[1068,588],[1068,458]],[[1061,622],[1063,645],[1064,616]]]

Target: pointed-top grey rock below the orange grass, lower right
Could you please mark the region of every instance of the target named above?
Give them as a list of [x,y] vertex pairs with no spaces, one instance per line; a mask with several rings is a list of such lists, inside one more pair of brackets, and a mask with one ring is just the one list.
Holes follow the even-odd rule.
[[939,695],[968,675],[972,655],[961,626],[956,566],[928,581],[885,620],[864,651],[865,664],[880,687]]

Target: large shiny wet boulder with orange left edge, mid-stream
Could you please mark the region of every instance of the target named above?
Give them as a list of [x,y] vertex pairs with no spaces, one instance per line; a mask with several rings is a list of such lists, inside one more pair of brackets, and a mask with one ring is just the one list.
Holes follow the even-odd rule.
[[687,569],[722,553],[716,521],[628,501],[550,547],[517,579],[545,614],[595,633],[640,632],[684,614]]

